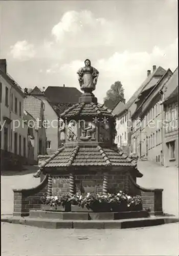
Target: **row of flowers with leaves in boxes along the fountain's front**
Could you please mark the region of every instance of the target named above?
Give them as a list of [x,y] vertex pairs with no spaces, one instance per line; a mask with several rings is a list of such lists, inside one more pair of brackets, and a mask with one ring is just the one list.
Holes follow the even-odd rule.
[[139,205],[141,203],[140,196],[129,196],[122,191],[119,191],[117,194],[107,194],[103,195],[102,193],[93,195],[87,193],[86,196],[82,196],[79,193],[76,193],[73,196],[65,195],[65,196],[51,196],[41,198],[42,204],[48,204],[50,206],[62,205],[64,206],[66,203],[71,203],[72,205],[78,206],[86,206],[91,207],[94,204],[100,203],[115,203],[120,205],[121,203],[126,204],[127,207]]

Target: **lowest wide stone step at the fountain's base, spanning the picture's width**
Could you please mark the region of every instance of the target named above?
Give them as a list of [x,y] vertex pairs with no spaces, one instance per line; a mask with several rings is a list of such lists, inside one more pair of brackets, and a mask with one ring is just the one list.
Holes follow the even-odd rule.
[[59,220],[30,217],[2,217],[2,222],[13,224],[23,224],[40,228],[81,228],[81,229],[115,229],[115,228],[135,228],[162,225],[178,222],[175,217],[150,217],[126,220]]

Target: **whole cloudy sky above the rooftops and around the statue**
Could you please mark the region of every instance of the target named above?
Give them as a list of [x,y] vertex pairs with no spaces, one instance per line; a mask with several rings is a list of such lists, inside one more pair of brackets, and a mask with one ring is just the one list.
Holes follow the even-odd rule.
[[177,0],[1,1],[0,57],[21,88],[76,87],[89,58],[95,96],[121,81],[128,100],[152,66],[177,67]]

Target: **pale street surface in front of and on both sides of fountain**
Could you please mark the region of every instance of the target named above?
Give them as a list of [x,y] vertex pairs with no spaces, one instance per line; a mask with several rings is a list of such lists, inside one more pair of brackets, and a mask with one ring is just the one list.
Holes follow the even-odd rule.
[[[143,187],[164,188],[163,209],[178,216],[178,169],[139,162]],[[13,212],[12,188],[39,184],[32,172],[1,176],[1,214]],[[178,255],[178,223],[130,229],[43,229],[2,223],[2,255]]]

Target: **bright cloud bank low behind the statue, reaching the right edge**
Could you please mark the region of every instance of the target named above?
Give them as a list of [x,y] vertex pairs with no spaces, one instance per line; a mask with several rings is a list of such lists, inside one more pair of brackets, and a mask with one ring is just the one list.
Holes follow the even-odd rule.
[[[146,79],[147,70],[151,70],[153,65],[174,71],[177,66],[177,42],[178,39],[163,49],[154,46],[150,53],[116,52],[108,58],[101,58],[92,63],[100,73],[95,91],[99,102],[103,101],[111,84],[118,80],[123,84],[124,96],[128,100]],[[70,87],[79,89],[76,72],[83,66],[82,60],[73,60],[62,66],[52,66],[49,73],[55,74],[57,79],[69,84]]]

